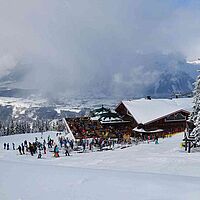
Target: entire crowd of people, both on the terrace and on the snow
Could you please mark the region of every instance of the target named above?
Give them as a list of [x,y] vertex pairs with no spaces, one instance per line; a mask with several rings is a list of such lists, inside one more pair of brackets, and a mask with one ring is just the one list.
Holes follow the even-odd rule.
[[[3,148],[5,150],[18,150],[19,155],[37,155],[38,158],[42,158],[43,155],[47,154],[47,152],[53,153],[54,157],[60,157],[60,154],[64,154],[65,156],[70,156],[72,151],[75,152],[86,152],[86,151],[103,151],[103,150],[113,150],[117,147],[122,147],[122,145],[126,144],[138,144],[141,142],[139,138],[134,138],[130,140],[126,140],[123,137],[109,137],[109,132],[120,132],[119,129],[113,129],[113,127],[108,127],[104,129],[100,124],[94,123],[89,119],[71,119],[68,121],[70,129],[76,135],[76,140],[69,139],[64,133],[56,133],[55,140],[50,137],[47,138],[47,141],[43,139],[43,133],[41,133],[41,138],[38,139],[35,137],[33,142],[24,140],[18,147],[16,148],[15,143],[4,143]],[[89,132],[93,133],[92,135]],[[103,134],[103,133],[107,134]],[[120,133],[117,133],[118,136]],[[129,135],[129,134],[128,134]],[[121,135],[120,135],[121,136]],[[150,143],[154,141],[155,144],[158,144],[158,137],[154,136],[145,136],[142,142],[147,141]],[[12,148],[11,148],[11,147]]]

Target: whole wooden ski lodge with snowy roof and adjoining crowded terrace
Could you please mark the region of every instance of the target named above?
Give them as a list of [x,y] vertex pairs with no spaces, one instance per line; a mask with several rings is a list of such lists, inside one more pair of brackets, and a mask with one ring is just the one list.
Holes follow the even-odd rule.
[[137,99],[122,101],[111,111],[101,107],[87,117],[66,118],[76,139],[103,137],[163,137],[182,132],[192,109],[192,99]]

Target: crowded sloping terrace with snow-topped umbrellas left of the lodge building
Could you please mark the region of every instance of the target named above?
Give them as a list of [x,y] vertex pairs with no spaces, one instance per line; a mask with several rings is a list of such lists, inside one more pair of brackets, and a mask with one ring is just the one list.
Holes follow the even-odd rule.
[[118,113],[103,106],[91,111],[89,117],[66,118],[65,121],[76,139],[121,138],[132,133],[130,121],[124,121]]

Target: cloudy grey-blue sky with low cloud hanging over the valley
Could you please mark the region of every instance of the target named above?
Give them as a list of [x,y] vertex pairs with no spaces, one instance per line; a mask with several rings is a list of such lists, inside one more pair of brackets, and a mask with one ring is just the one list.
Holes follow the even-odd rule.
[[23,63],[26,87],[138,92],[159,55],[200,56],[199,21],[198,0],[0,0],[0,73]]

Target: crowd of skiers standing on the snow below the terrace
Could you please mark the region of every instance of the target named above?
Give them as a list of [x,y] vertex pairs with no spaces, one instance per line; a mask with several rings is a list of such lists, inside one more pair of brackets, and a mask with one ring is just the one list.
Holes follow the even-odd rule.
[[47,153],[53,153],[54,157],[60,157],[60,154],[70,156],[72,151],[81,153],[86,151],[102,151],[105,149],[114,149],[116,144],[119,144],[119,139],[102,138],[102,137],[83,137],[74,141],[69,139],[63,133],[56,133],[55,139],[52,139],[50,135],[47,140],[38,139],[35,137],[34,141],[24,140],[21,144],[17,145],[12,143],[4,143],[3,148],[5,150],[17,150],[18,155],[37,155],[37,158],[42,158]]

